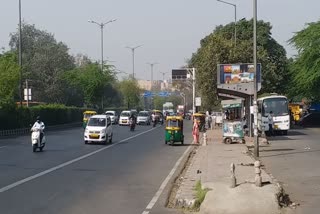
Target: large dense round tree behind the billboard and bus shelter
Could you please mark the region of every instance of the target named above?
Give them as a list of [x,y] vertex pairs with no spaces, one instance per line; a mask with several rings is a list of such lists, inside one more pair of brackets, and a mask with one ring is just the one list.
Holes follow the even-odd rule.
[[[200,48],[189,61],[196,67],[197,95],[202,97],[202,106],[210,109],[218,105],[217,64],[252,63],[253,22],[245,19],[237,23],[237,46],[232,38],[234,24],[218,26],[200,42]],[[258,63],[262,64],[262,90],[283,93],[287,90],[288,63],[285,49],[271,36],[270,23],[257,23]]]

